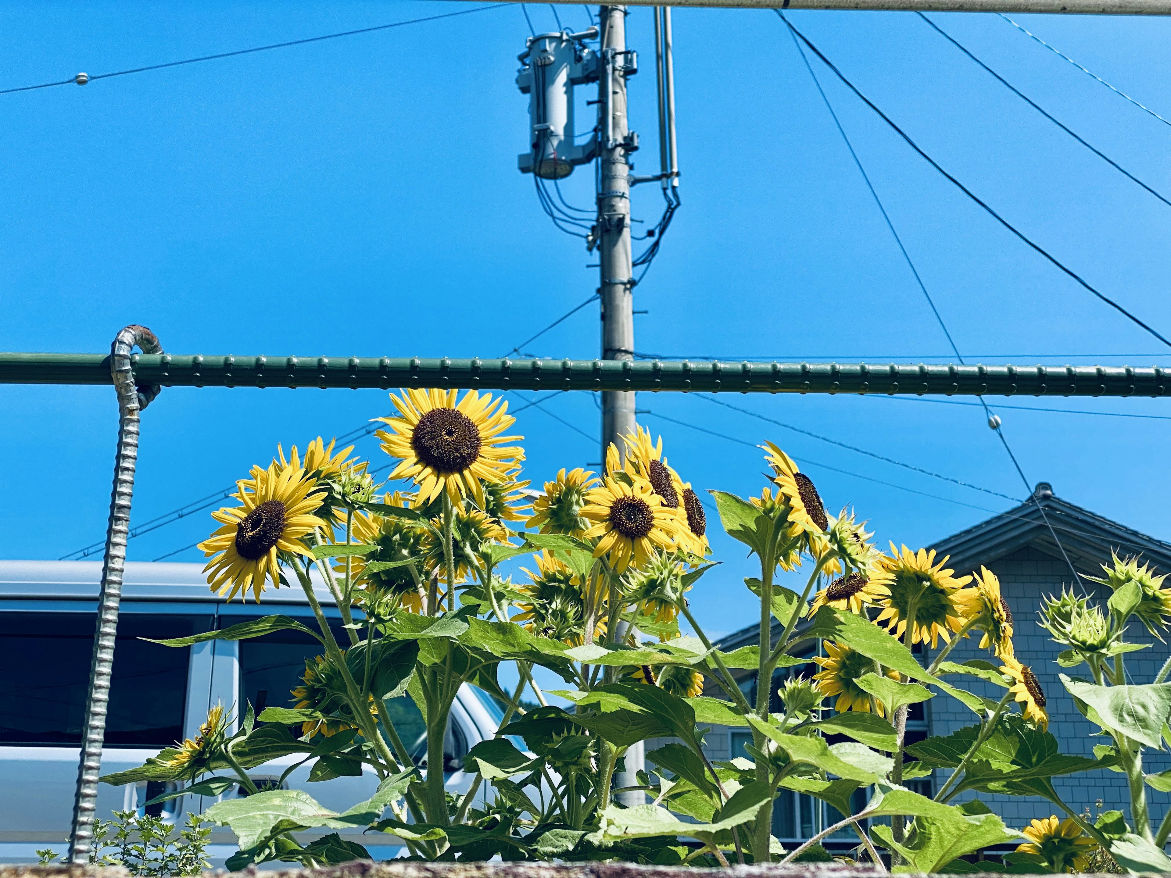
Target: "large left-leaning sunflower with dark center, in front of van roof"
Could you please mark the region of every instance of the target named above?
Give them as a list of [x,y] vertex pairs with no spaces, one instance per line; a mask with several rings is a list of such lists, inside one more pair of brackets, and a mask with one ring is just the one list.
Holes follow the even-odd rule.
[[328,527],[313,514],[321,506],[321,494],[317,481],[304,469],[279,467],[275,461],[267,469],[258,466],[252,471],[251,487],[240,482],[234,496],[241,506],[212,513],[222,527],[199,543],[211,558],[204,567],[204,572],[211,571],[207,582],[230,601],[249,589],[260,601],[266,579],[278,588],[278,551],[308,555],[301,537]]

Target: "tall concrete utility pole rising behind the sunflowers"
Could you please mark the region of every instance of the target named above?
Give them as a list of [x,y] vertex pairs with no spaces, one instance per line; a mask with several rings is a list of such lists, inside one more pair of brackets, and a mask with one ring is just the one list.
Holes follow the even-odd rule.
[[[597,235],[601,259],[602,359],[634,359],[634,270],[630,255],[630,160],[638,137],[626,125],[626,71],[634,70],[626,52],[626,7],[603,6],[602,76],[598,100],[602,110],[602,157],[597,191]],[[602,393],[602,458],[610,443],[625,448],[619,437],[635,431],[634,391]]]

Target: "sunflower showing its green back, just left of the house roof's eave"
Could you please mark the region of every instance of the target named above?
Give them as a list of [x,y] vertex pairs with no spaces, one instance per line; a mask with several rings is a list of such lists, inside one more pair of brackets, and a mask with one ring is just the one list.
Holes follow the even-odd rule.
[[891,543],[890,551],[892,557],[883,557],[882,571],[872,577],[888,591],[877,602],[883,611],[875,622],[885,619],[886,630],[902,637],[913,616],[912,644],[930,640],[931,649],[936,649],[940,637],[951,643],[949,631],[959,631],[965,620],[965,602],[958,592],[972,577],[952,576],[953,570],[944,569],[946,557],[936,564],[934,549],[915,553],[905,546],[896,549]]

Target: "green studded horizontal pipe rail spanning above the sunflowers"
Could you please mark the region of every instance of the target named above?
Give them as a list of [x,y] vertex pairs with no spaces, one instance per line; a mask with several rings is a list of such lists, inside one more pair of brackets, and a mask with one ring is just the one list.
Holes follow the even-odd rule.
[[[1160,366],[871,365],[629,359],[423,359],[136,355],[139,385],[189,387],[474,387],[733,393],[1171,396]],[[2,354],[0,384],[111,384],[101,354]]]

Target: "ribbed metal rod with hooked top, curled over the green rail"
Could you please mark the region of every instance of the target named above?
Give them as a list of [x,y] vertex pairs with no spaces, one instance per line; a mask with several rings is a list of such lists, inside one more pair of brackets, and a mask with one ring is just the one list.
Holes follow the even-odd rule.
[[105,558],[102,562],[102,589],[97,599],[94,658],[89,670],[85,725],[82,732],[81,761],[77,766],[73,830],[69,834],[69,862],[73,865],[89,863],[94,845],[97,783],[102,771],[105,714],[110,700],[110,675],[114,671],[118,605],[122,602],[122,572],[126,561],[126,533],[130,529],[130,500],[135,489],[135,465],[138,460],[138,413],[163,390],[158,384],[135,386],[131,364],[131,351],[135,345],[138,345],[144,354],[163,352],[155,334],[146,327],[138,325],[126,327],[118,332],[110,352],[110,376],[118,395],[118,451],[114,461],[114,494],[110,499],[110,522],[105,531]]

